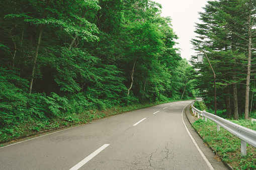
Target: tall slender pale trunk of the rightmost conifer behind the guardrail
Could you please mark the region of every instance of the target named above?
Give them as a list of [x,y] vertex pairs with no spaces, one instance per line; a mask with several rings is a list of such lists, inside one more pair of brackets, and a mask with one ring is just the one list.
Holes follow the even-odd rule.
[[250,66],[251,66],[251,26],[250,26],[250,15],[248,19],[248,34],[249,34],[249,44],[248,44],[248,64],[247,64],[247,74],[246,74],[246,87],[245,87],[245,110],[244,119],[249,118],[249,93],[250,93]]

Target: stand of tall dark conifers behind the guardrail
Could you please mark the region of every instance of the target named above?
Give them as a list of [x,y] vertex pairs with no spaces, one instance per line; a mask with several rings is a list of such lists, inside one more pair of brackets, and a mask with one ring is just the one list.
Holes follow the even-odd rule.
[[[217,115],[234,119],[256,118],[255,43],[256,1],[208,1],[197,23],[194,49],[206,53],[216,74]],[[204,51],[204,52],[203,52]],[[213,71],[207,58],[191,60],[197,87],[214,109]]]

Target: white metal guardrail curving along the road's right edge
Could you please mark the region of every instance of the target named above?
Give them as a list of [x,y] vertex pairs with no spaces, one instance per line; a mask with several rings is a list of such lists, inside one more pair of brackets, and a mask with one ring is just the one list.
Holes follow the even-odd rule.
[[216,116],[214,114],[208,113],[206,111],[201,111],[193,106],[192,102],[192,111],[195,114],[198,114],[198,118],[201,116],[202,119],[210,119],[217,123],[217,131],[220,130],[220,126],[234,134],[236,137],[241,139],[241,155],[246,155],[246,143],[250,144],[253,147],[256,147],[256,131],[223,119],[222,117]]

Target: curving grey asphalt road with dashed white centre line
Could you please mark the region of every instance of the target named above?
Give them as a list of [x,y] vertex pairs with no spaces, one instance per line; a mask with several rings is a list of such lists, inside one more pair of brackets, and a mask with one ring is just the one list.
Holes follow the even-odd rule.
[[189,103],[165,103],[0,147],[0,169],[225,169],[202,139],[190,136],[197,134],[184,109]]

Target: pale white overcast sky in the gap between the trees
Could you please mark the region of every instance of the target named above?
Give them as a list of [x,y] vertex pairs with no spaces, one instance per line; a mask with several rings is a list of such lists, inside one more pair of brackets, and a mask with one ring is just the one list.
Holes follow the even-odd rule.
[[195,31],[195,23],[200,23],[198,12],[203,12],[208,0],[152,0],[162,5],[162,16],[172,18],[174,32],[179,39],[176,40],[181,48],[181,57],[189,60],[191,55],[195,55],[190,40],[197,34]]

